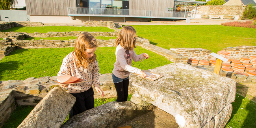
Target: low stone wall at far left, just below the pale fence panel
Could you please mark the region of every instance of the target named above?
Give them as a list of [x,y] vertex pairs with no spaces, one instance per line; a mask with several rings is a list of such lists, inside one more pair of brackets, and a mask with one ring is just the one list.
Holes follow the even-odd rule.
[[2,22],[0,24],[0,31],[6,30],[13,27],[20,26],[43,26],[44,24],[41,22]]

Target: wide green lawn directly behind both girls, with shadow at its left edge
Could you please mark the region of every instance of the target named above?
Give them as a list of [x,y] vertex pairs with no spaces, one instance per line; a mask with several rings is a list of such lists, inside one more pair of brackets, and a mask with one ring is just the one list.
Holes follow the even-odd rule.
[[[116,47],[98,47],[95,54],[100,66],[100,73],[111,73],[115,63]],[[0,60],[0,80],[25,80],[29,77],[57,76],[62,60],[74,48],[39,48],[17,49]],[[135,48],[137,54],[148,53],[149,59],[134,62],[139,69],[153,69],[171,63],[160,56],[140,46]],[[152,61],[152,60],[158,61]],[[22,74],[22,75],[21,75]]]

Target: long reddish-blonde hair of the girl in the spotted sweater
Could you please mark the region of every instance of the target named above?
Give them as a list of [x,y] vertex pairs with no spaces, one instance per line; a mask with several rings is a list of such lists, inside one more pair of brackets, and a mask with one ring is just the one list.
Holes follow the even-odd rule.
[[83,68],[87,69],[89,63],[95,61],[96,54],[94,53],[93,57],[87,59],[85,54],[86,49],[97,47],[97,41],[93,35],[88,32],[83,32],[78,35],[76,38],[75,43],[75,58],[76,58],[76,65],[78,67],[83,66]]

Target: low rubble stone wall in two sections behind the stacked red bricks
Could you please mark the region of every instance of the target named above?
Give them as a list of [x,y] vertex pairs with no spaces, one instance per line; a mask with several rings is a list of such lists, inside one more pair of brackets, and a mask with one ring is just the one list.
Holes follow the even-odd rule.
[[[188,59],[216,60],[215,57],[210,55],[211,50],[203,48],[170,48],[170,50],[175,52],[175,54],[187,57]],[[228,47],[223,50],[230,53],[230,56],[227,59],[240,60],[240,58],[250,58],[250,56],[256,55],[256,46]]]

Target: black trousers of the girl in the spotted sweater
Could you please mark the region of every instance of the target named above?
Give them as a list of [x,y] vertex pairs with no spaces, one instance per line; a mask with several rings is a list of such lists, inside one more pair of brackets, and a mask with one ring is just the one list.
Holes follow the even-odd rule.
[[82,93],[70,93],[76,97],[76,102],[69,112],[69,118],[86,110],[94,108],[93,87]]

